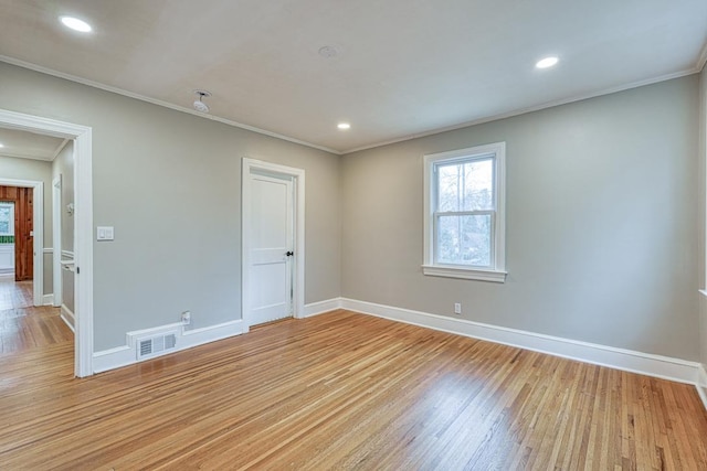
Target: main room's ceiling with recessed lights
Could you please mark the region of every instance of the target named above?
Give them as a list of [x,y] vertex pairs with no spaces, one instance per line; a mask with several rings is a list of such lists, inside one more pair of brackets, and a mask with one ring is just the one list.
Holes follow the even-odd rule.
[[2,61],[192,113],[207,89],[336,153],[696,73],[706,45],[705,0],[0,0]]

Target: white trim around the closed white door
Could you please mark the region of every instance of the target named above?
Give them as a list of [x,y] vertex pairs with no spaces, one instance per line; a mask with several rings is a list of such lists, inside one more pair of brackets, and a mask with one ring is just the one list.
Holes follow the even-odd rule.
[[277,163],[264,162],[262,160],[243,158],[241,171],[241,315],[243,319],[243,332],[247,332],[251,323],[247,319],[247,307],[251,306],[250,292],[250,231],[251,221],[251,180],[253,171],[265,171],[274,174],[289,176],[293,180],[295,193],[295,257],[294,257],[294,279],[293,279],[293,317],[305,317],[305,171],[293,167],[279,165]]

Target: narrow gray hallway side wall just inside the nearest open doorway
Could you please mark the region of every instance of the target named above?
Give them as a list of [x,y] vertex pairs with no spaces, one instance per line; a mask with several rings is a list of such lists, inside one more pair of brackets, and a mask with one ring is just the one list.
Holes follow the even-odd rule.
[[[52,162],[52,179],[62,176],[61,234],[62,251],[74,251],[74,216],[66,206],[74,202],[74,142],[70,141]],[[62,259],[67,257],[62,255]],[[74,312],[74,272],[62,269],[62,304]]]

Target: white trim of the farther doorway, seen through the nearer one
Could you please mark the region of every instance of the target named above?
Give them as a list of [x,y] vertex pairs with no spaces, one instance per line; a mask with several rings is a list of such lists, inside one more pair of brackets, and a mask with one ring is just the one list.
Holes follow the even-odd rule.
[[[15,180],[0,178],[2,186],[21,186],[32,189],[32,303],[44,303],[44,183],[36,180]],[[17,210],[15,210],[17,211]],[[17,244],[15,244],[17,247]],[[15,267],[17,269],[17,267]]]

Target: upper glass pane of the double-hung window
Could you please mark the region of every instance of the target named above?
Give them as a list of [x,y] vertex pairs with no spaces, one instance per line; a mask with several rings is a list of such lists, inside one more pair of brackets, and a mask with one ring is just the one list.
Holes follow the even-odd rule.
[[494,161],[471,160],[437,167],[437,211],[494,208]]

